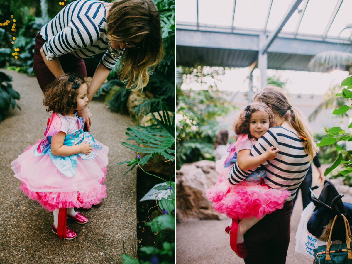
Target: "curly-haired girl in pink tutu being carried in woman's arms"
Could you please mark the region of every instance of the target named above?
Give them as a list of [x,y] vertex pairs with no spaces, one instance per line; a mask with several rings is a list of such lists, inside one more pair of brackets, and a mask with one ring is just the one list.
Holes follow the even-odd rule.
[[[242,170],[257,168],[262,163],[275,158],[278,149],[270,147],[257,157],[251,157],[250,151],[257,139],[262,137],[270,127],[276,123],[271,109],[265,103],[251,103],[243,109],[238,120],[233,124],[237,141],[228,147],[230,152],[216,162],[216,170],[220,173],[218,183],[207,189],[206,194],[212,207],[219,213],[226,214],[233,219],[232,228],[227,226],[226,233],[230,233],[231,248],[239,257],[246,257],[244,234],[266,214],[283,208],[284,200],[291,195],[289,191],[270,189],[264,183],[265,168],[259,167],[246,181],[232,185],[226,180],[227,172],[238,161]],[[241,219],[238,224],[238,219]]]

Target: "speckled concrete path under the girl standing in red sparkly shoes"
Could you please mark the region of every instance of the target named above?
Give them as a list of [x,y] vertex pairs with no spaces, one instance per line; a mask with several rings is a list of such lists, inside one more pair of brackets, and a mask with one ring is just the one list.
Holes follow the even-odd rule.
[[78,233],[73,240],[60,240],[51,232],[53,220],[36,201],[18,188],[11,162],[29,145],[43,138],[49,113],[35,77],[3,70],[13,77],[13,88],[20,93],[21,111],[9,111],[0,123],[0,263],[123,263],[125,251],[137,256],[136,170],[118,162],[135,158],[135,152],[121,145],[126,127],[134,123],[126,115],[109,111],[101,102],[92,102],[91,132],[109,147],[109,164],[104,184],[107,197],[100,208],[83,212],[85,225],[68,220],[67,226]]

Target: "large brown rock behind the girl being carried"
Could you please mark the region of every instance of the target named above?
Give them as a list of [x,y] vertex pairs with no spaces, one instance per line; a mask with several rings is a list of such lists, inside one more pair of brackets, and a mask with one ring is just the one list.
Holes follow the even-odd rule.
[[199,219],[224,219],[216,213],[205,194],[218,181],[214,161],[197,161],[182,165],[176,173],[176,219],[180,222]]

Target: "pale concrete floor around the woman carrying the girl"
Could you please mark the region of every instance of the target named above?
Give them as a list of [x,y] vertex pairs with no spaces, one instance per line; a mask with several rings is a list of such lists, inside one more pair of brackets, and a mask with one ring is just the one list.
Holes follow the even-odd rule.
[[[323,170],[327,165],[323,164]],[[312,186],[318,185],[319,173],[313,169]],[[314,190],[319,196],[321,187]],[[295,236],[303,210],[302,196],[298,194],[291,216],[291,237],[287,252],[287,264],[311,264],[314,258],[295,252]],[[224,232],[230,220],[199,220],[176,225],[176,263],[177,264],[243,264],[230,248],[230,237]],[[273,249],[275,250],[275,249]]]

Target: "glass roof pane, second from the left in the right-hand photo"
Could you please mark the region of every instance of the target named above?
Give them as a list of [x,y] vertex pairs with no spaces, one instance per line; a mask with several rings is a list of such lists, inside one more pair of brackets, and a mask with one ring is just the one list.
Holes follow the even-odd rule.
[[[177,0],[178,1],[178,0]],[[229,26],[232,24],[234,0],[199,0],[199,23]]]

